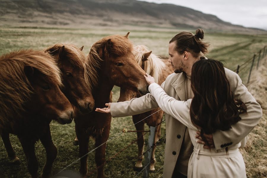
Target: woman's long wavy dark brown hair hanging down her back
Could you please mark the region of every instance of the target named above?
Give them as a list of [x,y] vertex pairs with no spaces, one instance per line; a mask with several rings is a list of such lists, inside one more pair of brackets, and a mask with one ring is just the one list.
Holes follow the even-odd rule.
[[192,123],[200,128],[200,136],[210,146],[204,134],[228,130],[241,120],[239,114],[247,111],[246,105],[235,100],[225,69],[220,61],[199,60],[192,68],[191,88],[194,98],[190,106]]

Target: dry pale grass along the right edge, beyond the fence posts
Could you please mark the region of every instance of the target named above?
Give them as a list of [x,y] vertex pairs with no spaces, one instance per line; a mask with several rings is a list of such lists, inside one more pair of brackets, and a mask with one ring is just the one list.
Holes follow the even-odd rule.
[[[264,60],[267,60],[265,58]],[[263,62],[264,62],[263,60]],[[240,149],[245,164],[247,177],[267,177],[267,62],[254,70],[249,92],[256,98],[262,107],[263,117],[260,123],[249,134],[246,147]]]

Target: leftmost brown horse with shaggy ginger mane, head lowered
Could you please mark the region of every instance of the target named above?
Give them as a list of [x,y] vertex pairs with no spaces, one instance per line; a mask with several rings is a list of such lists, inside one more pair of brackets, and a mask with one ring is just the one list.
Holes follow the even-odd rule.
[[42,51],[20,50],[0,57],[0,134],[8,157],[17,159],[9,133],[18,136],[27,158],[31,177],[37,177],[34,144],[41,140],[46,163],[41,177],[48,177],[57,149],[49,123],[71,123],[73,109],[61,92],[61,72],[55,59]]

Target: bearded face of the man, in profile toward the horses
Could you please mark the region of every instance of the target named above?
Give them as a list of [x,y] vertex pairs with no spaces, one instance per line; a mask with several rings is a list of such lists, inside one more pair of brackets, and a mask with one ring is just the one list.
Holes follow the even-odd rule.
[[185,64],[183,63],[183,55],[179,54],[175,50],[175,46],[175,42],[171,42],[169,44],[169,62],[171,63],[175,73],[181,73],[185,69]]

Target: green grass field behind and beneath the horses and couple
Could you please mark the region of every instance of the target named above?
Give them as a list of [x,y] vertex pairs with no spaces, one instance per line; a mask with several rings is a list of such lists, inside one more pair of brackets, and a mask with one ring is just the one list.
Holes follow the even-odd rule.
[[[194,33],[194,30],[185,29]],[[57,42],[71,42],[77,46],[83,46],[83,52],[85,55],[88,54],[91,45],[97,40],[104,36],[112,34],[125,35],[130,31],[129,39],[136,45],[146,45],[149,47],[153,53],[160,56],[168,56],[168,45],[169,40],[178,32],[184,31],[182,29],[139,29],[133,28],[88,28],[88,29],[68,29],[68,28],[31,28],[31,27],[1,27],[0,28],[0,55],[4,53],[9,53],[14,50],[33,48],[36,50],[42,50],[49,45],[53,45]],[[209,58],[214,58],[218,60],[225,61],[225,66],[229,69],[235,70],[238,64],[252,58],[254,53],[257,53],[264,45],[267,44],[267,34],[266,35],[245,35],[245,34],[222,34],[222,33],[209,33],[205,32],[205,41],[210,42],[210,53],[207,55]],[[247,70],[249,66],[244,68],[240,73],[241,78],[246,79]],[[265,76],[266,77],[266,76]],[[266,82],[266,80],[265,80]],[[266,90],[266,89],[265,89]],[[119,88],[113,88],[113,101],[117,101],[119,97]],[[266,102],[266,101],[263,101]],[[96,106],[97,107],[97,106]],[[264,116],[266,123],[266,115]],[[123,118],[113,118],[111,123],[110,138],[119,133],[123,128],[133,125],[131,117]],[[58,149],[58,156],[53,164],[52,175],[58,173],[61,169],[73,163],[78,157],[78,147],[73,146],[73,140],[75,138],[74,122],[68,125],[60,125],[56,122],[52,122],[51,134],[55,146]],[[134,126],[131,127],[135,130]],[[145,130],[149,128],[146,126]],[[266,135],[266,124],[260,125],[260,129],[265,131]],[[128,129],[130,130],[130,129]],[[162,135],[165,134],[165,123],[161,127]],[[257,132],[256,132],[257,135]],[[148,134],[145,136],[145,141],[147,144]],[[257,137],[258,138],[258,137]],[[266,138],[266,137],[265,137]],[[120,136],[112,139],[108,142],[106,150],[106,158],[112,157],[116,152],[123,149],[131,141],[136,139],[135,133],[121,134]],[[259,138],[258,138],[259,139]],[[0,139],[1,140],[1,139]],[[30,177],[27,171],[25,155],[21,148],[21,145],[16,136],[11,135],[11,142],[14,147],[15,152],[21,160],[20,165],[12,165],[8,163],[6,159],[6,151],[2,140],[0,141],[0,177],[3,178],[16,178],[16,177]],[[263,155],[266,158],[266,142],[259,141],[260,145],[253,147],[254,153],[257,155]],[[257,143],[257,140],[249,142],[251,144]],[[256,144],[257,145],[257,144]],[[263,147],[260,149],[260,147]],[[39,174],[42,166],[45,163],[45,149],[40,142],[36,143],[36,157],[39,161]],[[94,141],[90,139],[89,150],[94,148]],[[164,149],[164,144],[159,145],[156,148],[155,155],[158,155]],[[256,150],[256,151],[255,151]],[[138,172],[133,171],[133,166],[137,157],[137,144],[132,144],[127,150],[120,153],[117,157],[108,161],[105,165],[105,175],[106,177],[124,177],[133,178]],[[259,156],[260,157],[260,156]],[[249,155],[249,152],[245,154],[244,160],[246,161],[247,171],[249,171],[248,177],[264,177],[267,176],[261,171],[259,173],[257,161],[258,157],[253,160],[253,156]],[[266,158],[267,159],[267,158]],[[155,169],[158,171],[163,165],[164,152],[162,152],[157,158],[155,164]],[[253,161],[253,163],[252,163]],[[267,168],[267,163],[263,163],[262,168]],[[74,163],[70,166],[69,170],[78,171],[80,161]],[[144,165],[144,163],[143,163]],[[94,171],[95,158],[94,152],[88,155],[88,167],[89,171],[93,171],[90,177],[96,177],[96,172]],[[253,169],[250,169],[253,168]],[[160,169],[157,173],[151,173],[150,177],[161,177],[163,169]],[[263,172],[263,174],[262,174]],[[138,177],[142,177],[142,173]]]

